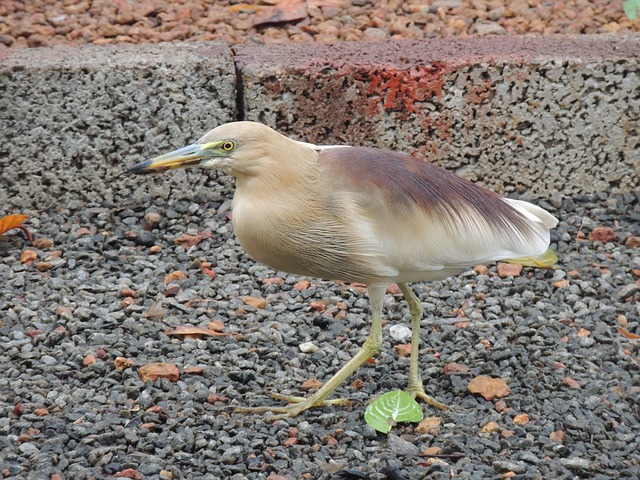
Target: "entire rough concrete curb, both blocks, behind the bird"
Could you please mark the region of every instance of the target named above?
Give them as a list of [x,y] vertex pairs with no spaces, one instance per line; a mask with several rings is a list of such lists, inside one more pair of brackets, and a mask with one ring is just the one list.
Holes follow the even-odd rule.
[[[640,36],[15,50],[0,88],[9,208],[139,199],[148,182],[123,166],[236,118],[412,152],[503,193],[640,184]],[[151,194],[206,195],[202,178]]]

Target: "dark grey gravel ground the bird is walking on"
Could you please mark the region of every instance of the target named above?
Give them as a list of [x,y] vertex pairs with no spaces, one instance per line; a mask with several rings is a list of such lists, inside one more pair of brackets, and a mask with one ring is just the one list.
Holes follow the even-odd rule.
[[[393,295],[375,363],[338,391],[353,406],[275,423],[225,409],[305,393],[369,331],[361,288],[300,284],[247,258],[218,212],[228,192],[224,183],[208,198],[25,212],[37,247],[20,232],[0,237],[3,477],[640,478],[639,342],[616,328],[640,334],[640,197],[540,202],[561,219],[555,271],[501,278],[491,266],[414,285],[428,312],[424,381],[454,409],[424,407],[439,419],[431,433],[400,424],[386,436],[363,413],[405,386],[408,359],[394,346],[406,340],[389,327],[408,324],[408,311]],[[589,240],[597,227],[617,239]],[[205,231],[193,247],[175,243]],[[211,322],[230,335],[166,333]],[[317,351],[302,353],[305,342]],[[118,357],[132,365],[118,369]],[[141,381],[152,362],[175,364],[179,380]],[[471,394],[478,375],[505,379],[511,393]],[[418,456],[425,450],[441,457]]]

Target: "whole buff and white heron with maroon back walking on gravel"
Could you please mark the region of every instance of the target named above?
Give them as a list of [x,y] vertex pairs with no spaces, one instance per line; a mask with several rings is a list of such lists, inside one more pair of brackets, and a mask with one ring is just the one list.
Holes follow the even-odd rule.
[[293,417],[341,404],[328,397],[383,342],[383,302],[397,284],[411,316],[407,393],[440,408],[419,373],[423,307],[414,282],[442,280],[485,262],[547,251],[558,220],[532,203],[502,197],[433,163],[390,150],[315,145],[258,122],[222,124],[195,144],[124,173],[216,169],[235,177],[232,223],[254,260],[290,274],[366,284],[371,331],[360,350],[315,393],[283,406],[238,412]]

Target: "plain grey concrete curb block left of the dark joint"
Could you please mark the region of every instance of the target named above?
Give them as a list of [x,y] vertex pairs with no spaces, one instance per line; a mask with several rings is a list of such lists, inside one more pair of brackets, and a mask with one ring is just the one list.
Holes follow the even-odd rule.
[[[222,44],[12,50],[0,62],[0,91],[4,208],[86,201],[90,191],[113,204],[132,193],[118,176],[125,167],[235,115]],[[189,195],[190,183],[180,175],[154,194]]]

